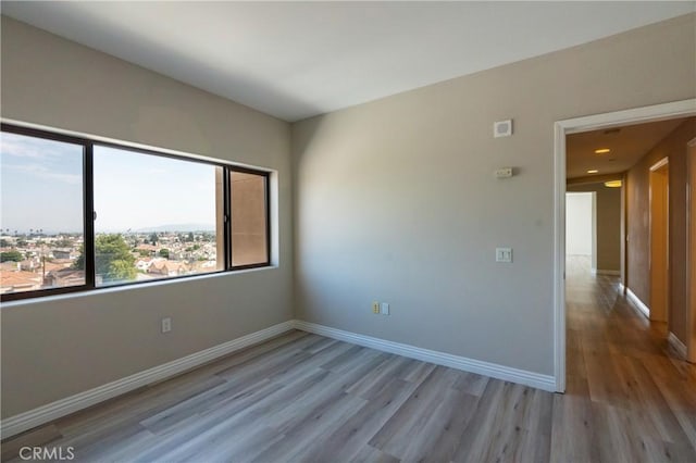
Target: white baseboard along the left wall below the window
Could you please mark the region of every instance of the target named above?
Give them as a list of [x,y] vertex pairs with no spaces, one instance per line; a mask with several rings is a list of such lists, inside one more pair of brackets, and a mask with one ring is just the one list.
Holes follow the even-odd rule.
[[10,416],[9,418],[2,420],[2,438],[5,439],[10,436],[14,436],[33,427],[58,420],[104,400],[129,392],[139,387],[178,375],[179,373],[195,368],[196,366],[202,365],[203,363],[210,362],[220,356],[227,355],[251,345],[271,339],[293,329],[294,327],[295,321],[279,323],[269,328],[261,329],[260,331],[251,333],[232,341],[136,373],[135,375],[38,406],[34,410],[29,410],[28,412]]

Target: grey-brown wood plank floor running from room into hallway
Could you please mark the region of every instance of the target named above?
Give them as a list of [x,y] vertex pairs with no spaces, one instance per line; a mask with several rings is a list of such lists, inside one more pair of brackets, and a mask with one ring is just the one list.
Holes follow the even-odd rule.
[[17,436],[3,460],[696,462],[696,368],[617,278],[568,274],[566,395],[293,331]]

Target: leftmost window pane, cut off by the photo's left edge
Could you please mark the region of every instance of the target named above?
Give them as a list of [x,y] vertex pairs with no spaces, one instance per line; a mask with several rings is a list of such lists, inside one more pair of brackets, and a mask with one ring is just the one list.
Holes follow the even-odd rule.
[[0,292],[85,284],[84,147],[0,136]]

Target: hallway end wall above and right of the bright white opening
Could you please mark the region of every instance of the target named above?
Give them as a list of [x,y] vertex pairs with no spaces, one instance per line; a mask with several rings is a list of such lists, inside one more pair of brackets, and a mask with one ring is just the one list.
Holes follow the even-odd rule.
[[621,270],[621,188],[605,184],[569,185],[568,191],[597,193],[597,271]]

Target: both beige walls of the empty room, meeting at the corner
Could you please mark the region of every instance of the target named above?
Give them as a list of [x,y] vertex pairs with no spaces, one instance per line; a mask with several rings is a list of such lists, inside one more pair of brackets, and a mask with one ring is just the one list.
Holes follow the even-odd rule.
[[[297,317],[551,374],[552,123],[693,98],[694,25],[294,125]],[[286,123],[4,17],[1,51],[3,117],[277,170],[281,250],[273,270],[4,304],[2,416],[293,317]]]

